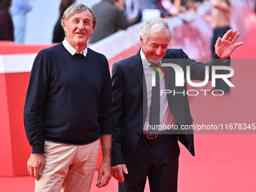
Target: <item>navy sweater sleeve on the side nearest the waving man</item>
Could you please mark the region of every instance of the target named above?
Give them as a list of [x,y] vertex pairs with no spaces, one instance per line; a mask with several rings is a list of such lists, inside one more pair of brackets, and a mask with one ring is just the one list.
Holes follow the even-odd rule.
[[[104,56],[105,57],[105,56]],[[100,135],[111,135],[112,109],[111,109],[111,78],[108,68],[108,60],[104,62],[104,84],[100,96],[99,127]]]

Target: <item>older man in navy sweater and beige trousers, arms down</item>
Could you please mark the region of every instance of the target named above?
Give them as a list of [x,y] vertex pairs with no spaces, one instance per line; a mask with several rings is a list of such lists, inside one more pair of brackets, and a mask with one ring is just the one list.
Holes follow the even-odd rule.
[[98,187],[111,178],[111,79],[108,60],[87,47],[96,15],[73,5],[62,17],[66,38],[35,58],[24,108],[35,191],[89,191],[99,139]]

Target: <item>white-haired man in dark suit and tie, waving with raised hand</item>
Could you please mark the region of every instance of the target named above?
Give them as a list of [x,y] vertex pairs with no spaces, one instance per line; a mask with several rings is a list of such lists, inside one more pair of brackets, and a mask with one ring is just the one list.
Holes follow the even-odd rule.
[[[191,79],[204,80],[206,65],[230,65],[230,54],[242,45],[242,42],[234,44],[238,37],[239,33],[230,30],[219,38],[213,56],[215,59],[205,64],[189,59],[181,49],[167,49],[172,29],[169,29],[166,20],[149,20],[142,25],[142,48],[136,55],[114,63],[112,71],[114,128],[111,172],[120,181],[119,191],[144,191],[147,176],[151,191],[177,191],[178,140],[194,155],[193,130],[184,133],[180,129],[193,122],[186,95],[186,75],[184,86],[175,87],[174,69],[163,67],[166,78],[160,78],[160,89],[172,90],[175,94],[158,93],[160,110],[156,113],[151,110],[156,100],[153,99],[154,86],[151,84],[154,69],[150,63],[163,65],[164,59],[171,59],[167,62],[181,67],[184,74],[186,66],[190,66]],[[159,71],[163,74],[161,67]],[[151,98],[154,102],[151,102]],[[178,127],[180,131],[170,129],[169,132],[151,133],[151,111],[155,112],[154,116],[159,115],[160,125]]]

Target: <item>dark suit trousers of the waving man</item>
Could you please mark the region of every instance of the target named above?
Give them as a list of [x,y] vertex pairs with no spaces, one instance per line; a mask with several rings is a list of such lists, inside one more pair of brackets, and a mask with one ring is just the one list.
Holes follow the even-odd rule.
[[148,176],[151,192],[176,192],[178,180],[177,136],[149,140],[139,139],[135,160],[124,182],[118,183],[119,192],[143,192]]

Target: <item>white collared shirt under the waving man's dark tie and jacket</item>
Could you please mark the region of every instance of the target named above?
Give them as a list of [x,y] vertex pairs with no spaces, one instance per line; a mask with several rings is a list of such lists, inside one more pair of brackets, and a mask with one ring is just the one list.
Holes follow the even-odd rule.
[[[143,48],[143,47],[142,47]],[[147,87],[147,98],[148,98],[148,113],[145,121],[145,125],[143,127],[144,131],[148,131],[148,125],[149,125],[149,117],[150,117],[150,111],[151,111],[151,96],[152,96],[152,72],[154,69],[150,67],[151,63],[148,62],[148,60],[145,58],[144,53],[142,52],[142,49],[140,51],[140,56],[142,58],[142,66],[143,66],[143,72],[145,75],[145,83]],[[160,90],[166,90],[166,83],[164,80],[164,73],[161,72],[161,75],[163,75],[163,78],[160,77]],[[175,125],[176,120],[172,115],[172,111],[169,109],[168,101],[167,101],[167,95],[162,94],[160,96],[160,125],[164,127],[164,125]],[[164,130],[162,130],[164,131]]]

